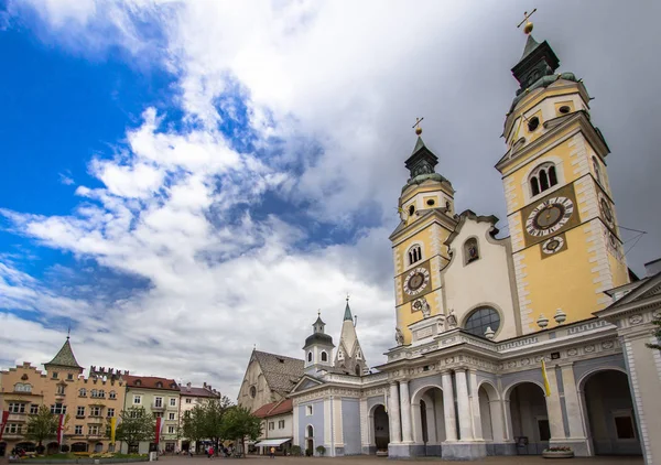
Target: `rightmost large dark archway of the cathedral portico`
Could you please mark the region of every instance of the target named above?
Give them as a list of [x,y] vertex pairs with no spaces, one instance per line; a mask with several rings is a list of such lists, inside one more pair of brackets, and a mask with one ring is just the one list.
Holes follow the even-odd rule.
[[587,434],[595,455],[642,455],[628,376],[606,369],[581,382]]

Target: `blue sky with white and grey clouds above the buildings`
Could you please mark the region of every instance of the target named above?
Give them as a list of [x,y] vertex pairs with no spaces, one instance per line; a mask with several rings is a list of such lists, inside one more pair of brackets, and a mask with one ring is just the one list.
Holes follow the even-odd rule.
[[[533,36],[584,79],[629,267],[661,256],[660,2],[0,0],[0,367],[208,382],[302,358],[345,298],[394,345],[397,201],[424,117],[456,209],[501,218],[496,162]],[[635,246],[635,247],[633,247]]]

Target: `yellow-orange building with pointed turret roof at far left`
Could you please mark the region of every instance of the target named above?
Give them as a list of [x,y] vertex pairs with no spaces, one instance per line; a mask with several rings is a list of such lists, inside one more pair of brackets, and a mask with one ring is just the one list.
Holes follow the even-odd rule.
[[[55,414],[66,414],[64,443],[77,452],[112,450],[106,436],[107,420],[123,408],[124,381],[113,369],[95,367],[89,377],[74,356],[69,338],[40,371],[30,363],[0,372],[0,405],[10,412],[0,452],[20,446],[33,450],[36,444],[25,439],[28,419],[40,405],[47,405]],[[57,450],[56,437],[44,445]],[[1,456],[2,454],[0,454]]]

